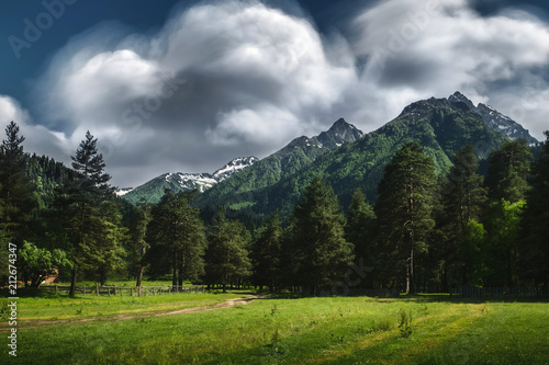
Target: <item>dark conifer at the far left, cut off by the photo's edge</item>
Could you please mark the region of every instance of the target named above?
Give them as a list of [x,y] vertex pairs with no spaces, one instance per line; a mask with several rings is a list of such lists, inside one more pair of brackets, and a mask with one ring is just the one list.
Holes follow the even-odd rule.
[[25,138],[13,122],[5,127],[5,135],[0,145],[0,229],[21,248],[37,201],[25,173],[26,157],[21,145]]

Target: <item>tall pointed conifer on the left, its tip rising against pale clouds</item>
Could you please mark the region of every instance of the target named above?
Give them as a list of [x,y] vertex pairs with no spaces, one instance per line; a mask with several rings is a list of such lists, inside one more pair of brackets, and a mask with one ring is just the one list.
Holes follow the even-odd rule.
[[122,242],[126,237],[103,157],[89,132],[71,158],[75,170],[57,191],[53,220],[61,228],[59,240],[68,246],[74,262],[74,296],[78,272],[99,275],[104,283],[109,273],[124,269]]

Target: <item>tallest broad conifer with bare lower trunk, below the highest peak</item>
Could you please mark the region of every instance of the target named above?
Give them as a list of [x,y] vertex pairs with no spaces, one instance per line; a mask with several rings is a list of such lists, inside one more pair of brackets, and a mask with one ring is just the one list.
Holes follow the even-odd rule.
[[399,286],[405,276],[407,294],[416,292],[414,261],[427,252],[427,238],[435,225],[435,186],[433,160],[415,142],[396,151],[379,184],[374,209],[382,265],[389,269],[384,280]]

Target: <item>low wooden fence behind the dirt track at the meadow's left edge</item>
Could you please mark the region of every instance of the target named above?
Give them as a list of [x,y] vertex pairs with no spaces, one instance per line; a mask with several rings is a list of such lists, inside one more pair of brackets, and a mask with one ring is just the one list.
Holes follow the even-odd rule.
[[[51,290],[54,293],[70,292],[70,286],[65,285],[42,285],[42,290]],[[149,295],[165,295],[177,293],[204,293],[204,286],[77,286],[76,293],[81,295],[108,295],[108,296],[137,296],[144,297]]]

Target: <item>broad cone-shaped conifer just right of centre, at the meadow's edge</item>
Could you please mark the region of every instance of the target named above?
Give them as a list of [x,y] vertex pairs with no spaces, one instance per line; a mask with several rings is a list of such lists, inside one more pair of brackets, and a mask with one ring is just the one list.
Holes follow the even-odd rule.
[[290,227],[296,282],[311,295],[345,278],[354,247],[345,240],[344,225],[334,191],[315,176],[295,204]]

